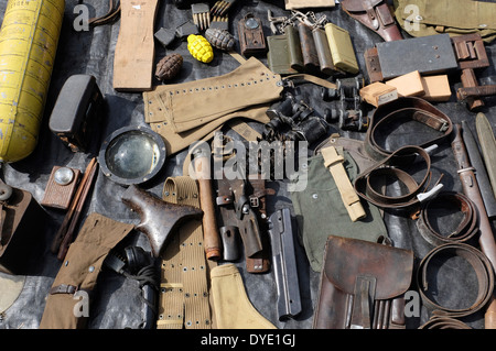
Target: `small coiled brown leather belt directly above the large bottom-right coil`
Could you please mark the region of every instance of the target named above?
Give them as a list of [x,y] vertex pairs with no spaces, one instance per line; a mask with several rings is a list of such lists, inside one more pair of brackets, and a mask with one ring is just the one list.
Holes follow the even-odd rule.
[[[429,220],[429,212],[435,208],[451,208],[455,206],[463,219],[450,234],[438,232]],[[474,202],[460,193],[444,191],[425,202],[419,213],[417,228],[420,234],[434,246],[451,242],[467,242],[478,232],[477,210]]]

